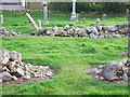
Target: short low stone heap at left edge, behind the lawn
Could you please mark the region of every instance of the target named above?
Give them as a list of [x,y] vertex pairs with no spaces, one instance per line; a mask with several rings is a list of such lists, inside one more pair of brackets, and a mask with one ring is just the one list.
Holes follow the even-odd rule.
[[21,33],[17,33],[15,31],[6,31],[4,27],[0,27],[0,36],[20,36]]

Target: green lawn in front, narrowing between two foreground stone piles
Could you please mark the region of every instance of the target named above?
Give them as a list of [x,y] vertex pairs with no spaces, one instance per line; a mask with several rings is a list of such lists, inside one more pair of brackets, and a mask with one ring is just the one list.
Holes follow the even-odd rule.
[[23,60],[50,66],[52,80],[3,85],[3,95],[128,95],[128,84],[96,81],[84,69],[127,59],[127,39],[2,37],[2,48],[23,54]]

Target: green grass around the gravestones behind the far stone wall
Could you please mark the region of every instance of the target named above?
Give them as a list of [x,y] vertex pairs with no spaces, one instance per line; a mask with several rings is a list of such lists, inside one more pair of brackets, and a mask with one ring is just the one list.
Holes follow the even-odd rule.
[[[3,11],[4,15],[4,24],[2,25],[8,30],[14,30],[16,32],[30,32],[34,31],[34,27],[29,23],[26,17],[26,13],[17,13],[17,12],[9,12]],[[29,14],[34,17],[35,22],[38,23],[38,19],[43,22],[43,13],[42,12],[29,12]],[[82,25],[82,17],[86,17],[86,25]],[[92,27],[95,25],[95,19],[102,18],[102,15],[79,15],[78,22],[70,22],[70,14],[56,14],[49,13],[49,25],[42,25],[43,27],[64,27],[65,25],[70,25],[79,28],[83,27]],[[123,15],[108,15],[106,20],[101,20],[101,26],[114,26],[116,24],[122,24],[127,22],[126,14]],[[51,30],[51,29],[50,29]]]

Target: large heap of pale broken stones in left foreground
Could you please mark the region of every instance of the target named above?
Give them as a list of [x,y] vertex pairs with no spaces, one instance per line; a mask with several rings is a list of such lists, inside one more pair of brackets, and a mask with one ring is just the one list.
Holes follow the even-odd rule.
[[35,66],[22,61],[22,54],[15,51],[0,50],[0,82],[46,78],[53,74],[48,66]]

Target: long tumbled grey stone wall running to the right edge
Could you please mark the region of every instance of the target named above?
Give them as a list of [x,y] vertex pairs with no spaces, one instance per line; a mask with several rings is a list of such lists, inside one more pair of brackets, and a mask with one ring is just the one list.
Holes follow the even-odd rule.
[[87,37],[87,38],[128,38],[128,25],[117,24],[115,26],[96,26],[87,28],[76,28],[66,25],[63,30],[54,26],[52,30],[43,28],[39,32],[31,32],[31,36],[55,36],[55,37]]

